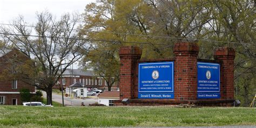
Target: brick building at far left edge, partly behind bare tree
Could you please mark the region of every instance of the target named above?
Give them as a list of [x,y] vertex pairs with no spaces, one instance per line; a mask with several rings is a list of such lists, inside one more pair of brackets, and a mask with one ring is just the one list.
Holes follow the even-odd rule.
[[[18,58],[18,59],[17,59]],[[9,70],[10,73],[17,73],[14,68],[17,66],[17,61],[27,60],[23,53],[16,50],[4,50],[0,51],[0,75],[3,75],[3,72]],[[3,75],[4,76],[4,75]],[[29,84],[22,82],[21,80],[13,79],[6,80],[3,78],[0,79],[0,104],[4,105],[21,105],[21,95],[19,90],[29,89],[30,92],[35,92],[35,87]],[[5,79],[5,80],[4,80]]]

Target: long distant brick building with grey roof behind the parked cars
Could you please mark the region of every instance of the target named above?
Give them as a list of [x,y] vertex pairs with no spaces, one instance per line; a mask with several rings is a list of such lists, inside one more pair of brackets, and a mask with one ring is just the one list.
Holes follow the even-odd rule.
[[[83,70],[83,69],[66,69],[62,75],[62,84],[64,89],[69,87],[70,85],[80,82],[84,84],[84,87],[87,89],[90,88],[98,88],[100,90],[107,90],[107,83],[101,77],[96,77],[93,75],[92,70]],[[53,88],[60,89],[60,80],[57,85]],[[118,82],[115,82],[114,85],[111,87],[111,90],[116,91],[119,89]]]

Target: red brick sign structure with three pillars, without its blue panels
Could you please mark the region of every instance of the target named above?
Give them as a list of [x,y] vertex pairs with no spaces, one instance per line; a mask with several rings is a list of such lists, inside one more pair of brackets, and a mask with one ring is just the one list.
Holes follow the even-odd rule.
[[[234,101],[233,65],[235,52],[230,48],[217,49],[215,60],[199,59],[200,62],[220,64],[221,99],[197,99],[197,62],[199,46],[196,43],[180,42],[174,45],[175,58],[140,59],[141,50],[135,46],[120,48],[120,100],[129,98],[129,105],[176,105],[180,103],[206,106],[231,106]],[[138,63],[174,61],[174,99],[138,99]]]

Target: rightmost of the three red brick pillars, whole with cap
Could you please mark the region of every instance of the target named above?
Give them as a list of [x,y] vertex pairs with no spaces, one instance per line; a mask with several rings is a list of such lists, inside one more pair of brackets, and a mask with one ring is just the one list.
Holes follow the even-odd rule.
[[234,99],[235,50],[227,47],[219,48],[215,50],[214,58],[223,62],[220,68],[220,97]]

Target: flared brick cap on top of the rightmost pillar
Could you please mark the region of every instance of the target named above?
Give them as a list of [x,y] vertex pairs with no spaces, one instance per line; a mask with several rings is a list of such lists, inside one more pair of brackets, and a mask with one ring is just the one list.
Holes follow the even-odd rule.
[[215,59],[234,59],[235,58],[235,50],[233,48],[223,47],[218,48],[214,52]]

